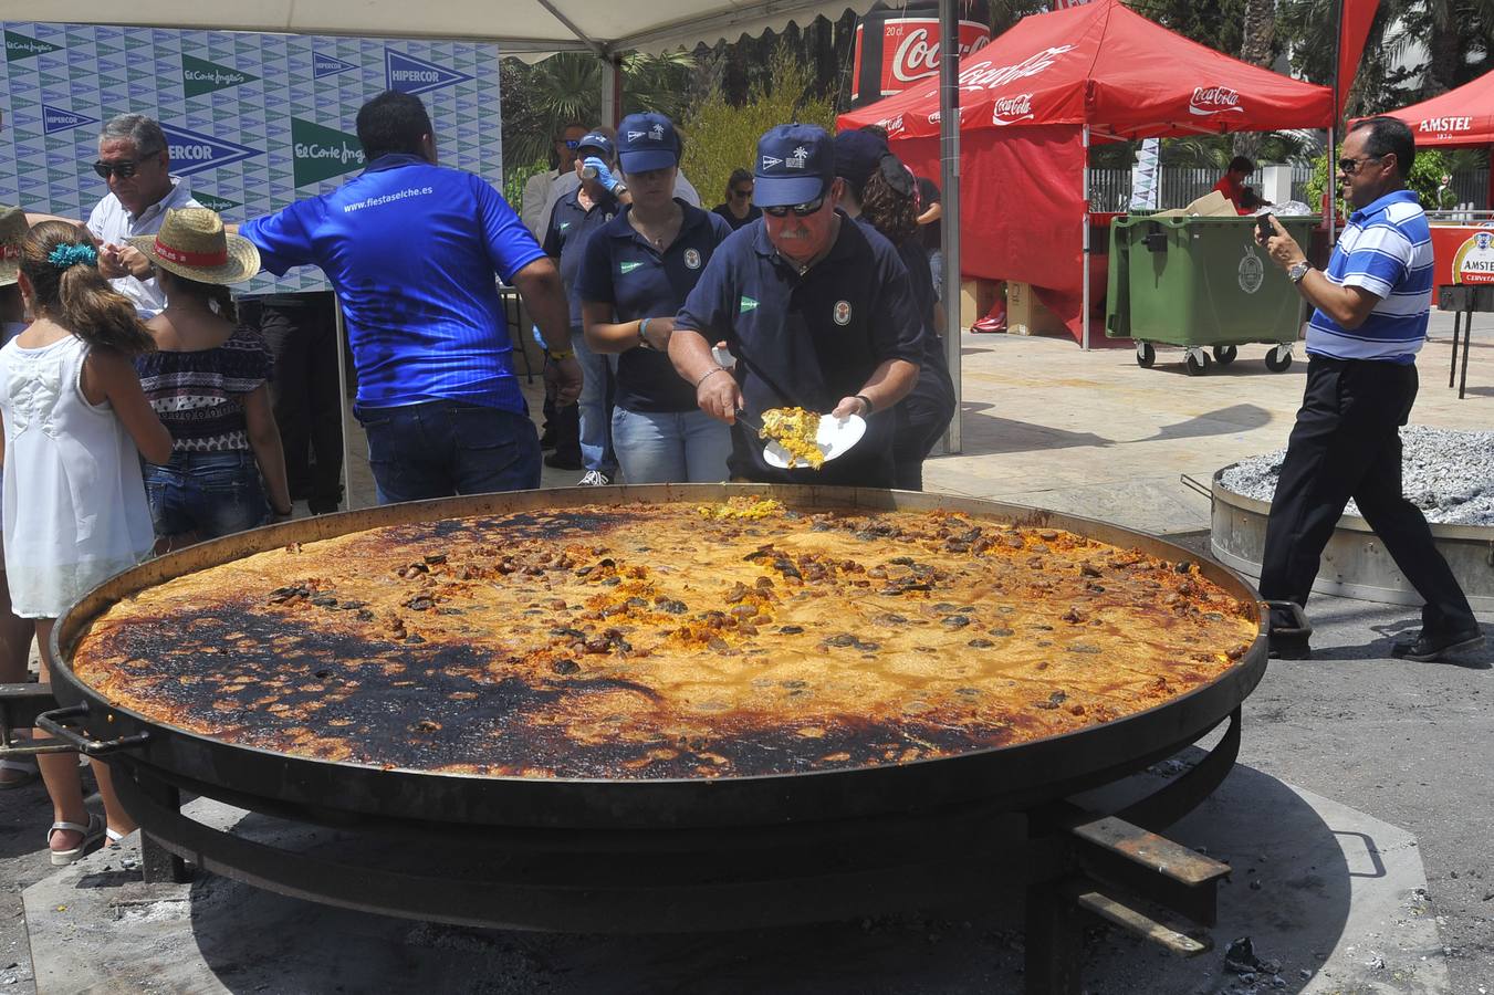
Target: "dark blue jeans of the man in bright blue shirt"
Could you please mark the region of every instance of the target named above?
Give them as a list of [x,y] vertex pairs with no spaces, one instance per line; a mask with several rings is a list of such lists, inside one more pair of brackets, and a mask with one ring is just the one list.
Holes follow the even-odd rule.
[[460,400],[353,411],[381,505],[539,487],[539,436],[527,415]]

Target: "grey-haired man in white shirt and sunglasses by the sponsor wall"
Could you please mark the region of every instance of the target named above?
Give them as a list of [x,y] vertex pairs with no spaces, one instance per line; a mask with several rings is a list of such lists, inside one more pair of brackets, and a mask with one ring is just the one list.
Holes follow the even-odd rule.
[[166,294],[154,276],[131,276],[120,263],[120,249],[131,236],[155,235],[167,209],[202,205],[170,175],[161,125],[140,114],[121,114],[103,125],[94,172],[109,184],[109,196],[88,215],[88,230],[103,244],[99,272],[130,299],[142,321],[149,321],[166,308]]

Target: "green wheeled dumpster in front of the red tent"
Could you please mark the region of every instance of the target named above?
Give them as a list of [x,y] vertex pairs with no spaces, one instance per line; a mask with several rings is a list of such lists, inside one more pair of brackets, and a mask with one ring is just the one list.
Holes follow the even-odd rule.
[[[1277,220],[1298,245],[1312,242],[1316,217]],[[1273,371],[1291,366],[1301,296],[1255,244],[1255,218],[1116,218],[1107,290],[1106,336],[1135,341],[1141,366],[1156,360],[1153,345],[1174,345],[1201,373],[1210,356],[1227,365],[1250,342],[1276,347],[1265,356]]]

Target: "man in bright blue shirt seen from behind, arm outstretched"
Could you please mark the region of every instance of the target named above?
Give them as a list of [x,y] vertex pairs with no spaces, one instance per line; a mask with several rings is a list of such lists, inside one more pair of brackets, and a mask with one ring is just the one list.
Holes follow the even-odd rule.
[[539,486],[495,273],[518,288],[569,400],[581,390],[554,264],[481,176],[436,164],[420,97],[363,105],[368,167],[239,229],[264,269],[326,272],[359,373],[354,412],[379,503]]

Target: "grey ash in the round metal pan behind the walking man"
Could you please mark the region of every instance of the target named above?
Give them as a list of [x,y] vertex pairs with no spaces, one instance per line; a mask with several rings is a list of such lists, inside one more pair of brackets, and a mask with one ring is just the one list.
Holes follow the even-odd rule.
[[[1494,432],[1401,429],[1401,490],[1436,524],[1494,524]],[[1219,478],[1225,490],[1268,502],[1286,450],[1242,460]],[[1345,514],[1358,515],[1351,500]]]

